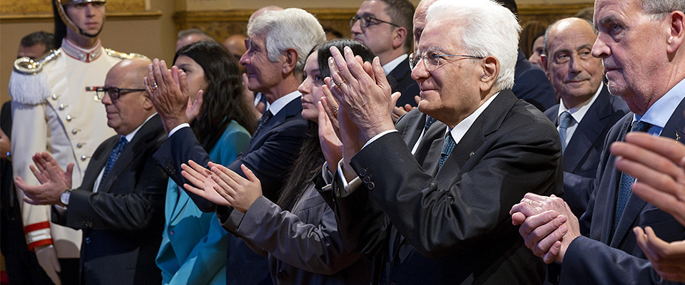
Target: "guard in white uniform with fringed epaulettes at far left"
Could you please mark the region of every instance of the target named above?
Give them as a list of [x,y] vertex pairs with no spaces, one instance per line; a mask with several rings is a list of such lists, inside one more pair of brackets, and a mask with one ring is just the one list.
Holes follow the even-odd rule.
[[[11,75],[11,154],[14,177],[29,185],[39,181],[29,165],[36,152],[50,152],[61,167],[74,164],[76,187],[97,145],[113,135],[105,111],[86,86],[101,85],[107,71],[128,54],[103,48],[104,0],[54,0],[55,39],[61,47],[46,53],[42,64],[22,64]],[[17,191],[21,201],[23,192]],[[26,244],[56,284],[75,284],[81,233],[50,222],[50,207],[21,203]]]

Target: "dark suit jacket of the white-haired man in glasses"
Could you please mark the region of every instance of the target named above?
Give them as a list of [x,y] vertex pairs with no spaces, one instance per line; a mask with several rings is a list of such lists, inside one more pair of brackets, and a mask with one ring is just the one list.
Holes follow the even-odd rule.
[[[425,122],[425,115],[415,116]],[[526,192],[561,190],[561,147],[553,125],[504,90],[437,171],[442,143],[433,139],[445,134],[439,127],[431,126],[420,142],[417,157],[430,148],[423,163],[402,140],[404,130],[352,157],[365,187],[334,197],[345,246],[382,254],[395,243],[387,240],[391,222],[405,242],[390,254],[388,282],[542,283],[544,264],[524,246],[508,212]]]

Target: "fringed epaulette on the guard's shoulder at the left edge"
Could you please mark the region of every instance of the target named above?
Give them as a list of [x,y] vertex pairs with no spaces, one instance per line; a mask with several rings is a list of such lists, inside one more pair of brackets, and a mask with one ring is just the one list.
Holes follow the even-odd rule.
[[48,76],[41,72],[43,66],[54,61],[61,50],[51,50],[40,58],[19,58],[14,61],[14,71],[9,78],[9,95],[17,103],[37,105],[50,95]]

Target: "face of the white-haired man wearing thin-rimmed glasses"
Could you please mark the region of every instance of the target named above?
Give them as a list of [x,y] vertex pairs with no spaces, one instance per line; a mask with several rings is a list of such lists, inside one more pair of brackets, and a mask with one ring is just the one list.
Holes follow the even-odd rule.
[[[423,31],[418,52],[438,55],[468,55],[461,45],[458,24],[434,21]],[[445,28],[450,27],[450,28]],[[428,71],[419,61],[412,70],[412,78],[421,90],[419,110],[443,123],[472,113],[480,104],[480,59],[461,56],[443,57],[440,66]],[[428,64],[429,69],[430,64]],[[480,72],[478,68],[481,68]]]

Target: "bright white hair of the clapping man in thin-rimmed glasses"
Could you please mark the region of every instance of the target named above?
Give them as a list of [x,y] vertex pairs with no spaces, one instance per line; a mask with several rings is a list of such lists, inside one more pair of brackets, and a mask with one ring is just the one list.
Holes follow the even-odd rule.
[[428,7],[427,26],[444,19],[455,20],[469,55],[497,58],[499,76],[494,88],[514,87],[521,25],[512,11],[491,0],[442,0]]

